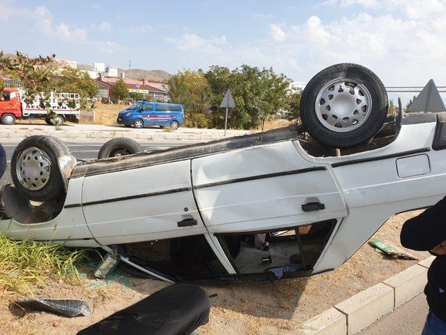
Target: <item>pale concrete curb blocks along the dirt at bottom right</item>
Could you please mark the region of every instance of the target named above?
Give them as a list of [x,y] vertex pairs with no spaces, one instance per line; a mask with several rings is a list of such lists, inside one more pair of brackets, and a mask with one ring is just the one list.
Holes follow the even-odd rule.
[[424,290],[434,256],[353,295],[303,323],[300,334],[353,335]]

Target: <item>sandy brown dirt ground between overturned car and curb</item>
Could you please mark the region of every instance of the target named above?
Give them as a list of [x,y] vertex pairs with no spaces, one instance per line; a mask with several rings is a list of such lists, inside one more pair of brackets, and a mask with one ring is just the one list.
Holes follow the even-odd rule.
[[[413,211],[390,218],[375,237],[401,246],[401,225],[418,213],[420,211]],[[420,260],[429,256],[428,253],[410,252]],[[301,322],[415,262],[387,258],[364,244],[342,267],[327,274],[275,283],[204,285],[208,294],[217,293],[218,296],[212,299],[210,322],[198,331],[203,335],[296,334]],[[3,292],[0,295],[0,334],[76,334],[80,329],[167,285],[134,278],[120,270],[115,270],[107,282],[95,280],[91,274],[92,267],[81,271],[84,276],[80,285],[43,283],[36,285],[34,295],[84,299],[93,309],[91,316],[63,318],[43,312],[24,313],[10,304],[13,299],[23,299],[23,296]]]

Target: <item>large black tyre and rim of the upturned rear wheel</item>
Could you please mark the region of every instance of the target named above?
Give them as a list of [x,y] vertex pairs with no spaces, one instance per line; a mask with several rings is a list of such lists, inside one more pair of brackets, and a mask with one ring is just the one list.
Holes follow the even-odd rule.
[[321,144],[348,148],[380,130],[387,107],[387,93],[377,75],[357,64],[337,64],[309,81],[302,92],[300,117]]

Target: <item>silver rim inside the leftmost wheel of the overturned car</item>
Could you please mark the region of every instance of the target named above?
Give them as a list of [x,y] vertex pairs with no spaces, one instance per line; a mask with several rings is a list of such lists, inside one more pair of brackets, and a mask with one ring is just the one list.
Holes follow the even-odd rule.
[[20,184],[29,191],[38,191],[45,187],[51,173],[51,161],[45,151],[29,147],[20,153],[15,165],[15,172]]

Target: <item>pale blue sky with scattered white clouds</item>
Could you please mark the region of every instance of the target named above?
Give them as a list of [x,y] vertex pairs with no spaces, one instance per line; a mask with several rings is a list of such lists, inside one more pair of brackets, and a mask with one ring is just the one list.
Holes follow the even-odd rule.
[[332,64],[386,86],[446,85],[446,0],[0,0],[0,50],[79,64],[270,67],[307,82]]

